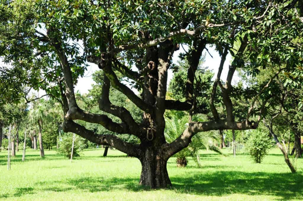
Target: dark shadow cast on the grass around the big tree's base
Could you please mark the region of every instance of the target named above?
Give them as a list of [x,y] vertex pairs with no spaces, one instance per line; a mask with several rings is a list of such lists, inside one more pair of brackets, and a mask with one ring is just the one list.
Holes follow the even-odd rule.
[[[206,168],[213,168],[213,166]],[[103,177],[83,176],[64,181],[37,182],[34,186],[38,187],[37,192],[65,192],[75,189],[91,193],[112,190],[128,190],[132,192],[151,190],[148,186],[139,186],[138,181],[138,177],[111,177],[104,179]],[[171,189],[180,194],[226,196],[237,193],[278,196],[281,199],[302,199],[303,175],[301,174],[217,171],[212,174],[188,173],[187,177],[172,176],[171,181],[173,185]],[[46,185],[48,187],[43,188]],[[18,188],[14,196],[32,194],[33,192],[33,187]],[[7,198],[8,196],[8,194],[2,194],[0,198]]]

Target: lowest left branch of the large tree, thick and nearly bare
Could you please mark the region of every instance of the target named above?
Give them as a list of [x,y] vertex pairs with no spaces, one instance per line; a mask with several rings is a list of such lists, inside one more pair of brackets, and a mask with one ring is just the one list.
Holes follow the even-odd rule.
[[113,146],[119,151],[127,153],[129,156],[138,157],[139,153],[141,152],[139,146],[125,142],[115,135],[95,134],[91,130],[86,129],[85,127],[71,120],[63,122],[62,127],[64,132],[76,133],[81,137],[84,137],[85,139],[97,144]]

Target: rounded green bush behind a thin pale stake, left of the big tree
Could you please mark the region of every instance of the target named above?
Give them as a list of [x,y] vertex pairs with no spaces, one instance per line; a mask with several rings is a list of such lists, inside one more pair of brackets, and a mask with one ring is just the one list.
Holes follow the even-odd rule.
[[[65,136],[62,136],[59,140],[59,148],[57,150],[58,154],[63,154],[68,158],[71,158],[72,153],[72,144],[73,144],[73,134],[67,133]],[[74,151],[73,157],[79,156],[82,149],[85,147],[83,138],[75,135]]]

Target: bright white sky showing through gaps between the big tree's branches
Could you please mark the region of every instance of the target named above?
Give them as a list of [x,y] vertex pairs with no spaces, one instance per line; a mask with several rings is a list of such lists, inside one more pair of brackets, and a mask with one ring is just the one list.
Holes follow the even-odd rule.
[[[184,47],[184,48],[187,51],[186,47]],[[219,65],[220,65],[221,58],[219,56],[219,53],[215,50],[214,47],[207,46],[207,49],[208,49],[209,53],[213,56],[213,58],[211,58],[211,56],[208,54],[208,52],[206,50],[204,50],[202,54],[206,53],[206,57],[205,57],[205,63],[203,64],[203,67],[208,67],[209,69],[213,70],[213,72],[215,73],[215,76],[216,76]],[[175,51],[175,53],[173,55],[173,61],[172,61],[173,63],[176,63],[178,61],[178,59],[179,59],[178,55],[182,52],[184,52],[183,48],[180,48],[178,51]],[[230,62],[231,62],[231,55],[228,54],[226,56],[226,61],[223,66],[223,71],[221,74],[221,79],[223,81],[226,81]],[[78,83],[75,86],[75,91],[79,91],[81,94],[87,94],[88,90],[92,89],[92,84],[95,84],[95,82],[92,80],[92,74],[95,71],[99,70],[99,68],[96,64],[92,64],[92,63],[89,63],[89,64],[90,64],[90,66],[88,66],[87,71],[85,71],[85,73],[84,73],[84,76],[80,77],[78,79]],[[168,70],[168,81],[171,80],[172,76],[173,76],[172,71]],[[235,84],[236,82],[238,82],[238,80],[239,80],[239,78],[237,76],[237,72],[235,72],[232,83]]]

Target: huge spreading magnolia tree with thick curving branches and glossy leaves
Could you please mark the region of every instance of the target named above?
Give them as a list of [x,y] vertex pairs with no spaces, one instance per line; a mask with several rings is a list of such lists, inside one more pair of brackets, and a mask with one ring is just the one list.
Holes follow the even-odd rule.
[[[65,132],[113,146],[138,158],[142,164],[140,184],[166,187],[171,185],[167,160],[187,147],[196,133],[258,127],[270,98],[267,89],[272,80],[281,71],[293,71],[301,65],[298,58],[302,45],[298,38],[303,23],[297,9],[299,4],[297,0],[37,0],[22,1],[22,4],[16,0],[1,5],[1,15],[8,19],[1,24],[6,30],[1,33],[5,46],[1,48],[5,61],[30,75],[23,76],[26,79],[21,77],[21,83],[24,79],[34,88],[44,89],[62,104]],[[174,52],[181,45],[189,46],[180,55],[189,64],[185,97],[167,100],[168,70],[176,56]],[[195,71],[206,45],[216,47],[221,56],[219,66],[214,66],[218,73],[207,101],[213,117],[207,122],[190,121],[180,136],[167,143],[165,110],[191,110],[191,114],[195,111],[198,93],[193,83],[199,82]],[[231,54],[233,61],[226,81],[222,82],[227,54]],[[88,63],[97,64],[104,72],[99,109],[118,117],[119,122],[78,106],[74,86]],[[235,89],[231,84],[237,68],[255,76],[281,63],[286,68],[279,68],[273,77],[252,89]],[[124,81],[118,78],[121,74]],[[130,85],[141,94],[136,95]],[[143,111],[141,122],[136,122],[125,107],[111,103],[110,87],[121,91]],[[217,95],[222,96],[225,105],[224,118],[219,117],[215,107]],[[250,100],[244,119],[235,118],[232,96]],[[134,135],[140,144],[127,143],[116,135],[95,133],[78,120],[101,124],[115,133]]]

